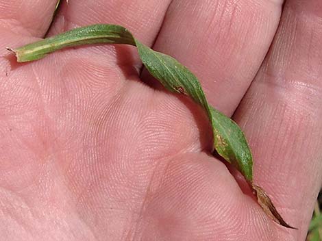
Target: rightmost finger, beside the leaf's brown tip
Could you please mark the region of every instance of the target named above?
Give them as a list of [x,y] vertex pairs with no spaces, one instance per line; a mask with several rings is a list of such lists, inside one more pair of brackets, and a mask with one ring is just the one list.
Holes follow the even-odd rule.
[[304,240],[322,180],[322,2],[286,2],[277,36],[236,111],[254,178]]

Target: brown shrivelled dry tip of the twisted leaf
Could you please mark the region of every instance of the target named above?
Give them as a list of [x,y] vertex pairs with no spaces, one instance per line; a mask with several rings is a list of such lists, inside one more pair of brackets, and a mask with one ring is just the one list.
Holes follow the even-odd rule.
[[256,192],[258,204],[260,205],[260,207],[262,207],[262,210],[264,210],[264,212],[275,221],[275,223],[278,223],[283,227],[287,227],[288,229],[297,229],[295,227],[291,227],[283,220],[282,216],[274,207],[271,199],[262,188],[256,186],[255,184],[252,184],[251,186]]

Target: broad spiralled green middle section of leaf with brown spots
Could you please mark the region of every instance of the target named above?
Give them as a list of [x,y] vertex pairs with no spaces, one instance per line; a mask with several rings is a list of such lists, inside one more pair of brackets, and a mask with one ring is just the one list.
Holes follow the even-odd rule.
[[252,181],[253,161],[243,132],[232,119],[208,104],[197,77],[169,55],[153,51],[138,40],[136,40],[136,47],[149,73],[166,89],[188,95],[206,110],[212,124],[214,149],[227,162],[236,166],[247,181]]

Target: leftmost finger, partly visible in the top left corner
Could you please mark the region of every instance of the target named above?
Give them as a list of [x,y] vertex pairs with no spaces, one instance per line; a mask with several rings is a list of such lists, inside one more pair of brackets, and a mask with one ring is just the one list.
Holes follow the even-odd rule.
[[57,0],[0,0],[0,31],[42,37],[51,23],[56,3]]

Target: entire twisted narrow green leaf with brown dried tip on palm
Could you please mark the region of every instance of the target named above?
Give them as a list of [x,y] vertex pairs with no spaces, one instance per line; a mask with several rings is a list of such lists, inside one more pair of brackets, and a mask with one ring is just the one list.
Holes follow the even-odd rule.
[[[134,45],[143,64],[160,83],[171,92],[185,94],[203,107],[208,114],[214,136],[213,149],[227,162],[243,174],[257,193],[258,202],[273,220],[284,227],[287,225],[277,213],[269,196],[262,188],[253,185],[253,160],[247,140],[238,125],[209,105],[197,77],[188,68],[164,53],[153,51],[136,40],[132,34],[119,25],[91,25],[67,31],[64,34],[40,40],[17,49],[9,49],[16,54],[18,62],[28,62],[44,58],[48,53],[65,47],[97,43]],[[275,215],[276,214],[276,215]],[[278,214],[278,215],[277,215]]]

